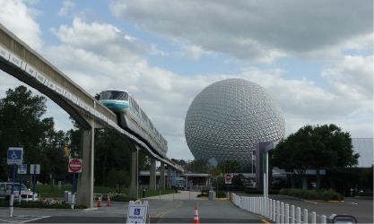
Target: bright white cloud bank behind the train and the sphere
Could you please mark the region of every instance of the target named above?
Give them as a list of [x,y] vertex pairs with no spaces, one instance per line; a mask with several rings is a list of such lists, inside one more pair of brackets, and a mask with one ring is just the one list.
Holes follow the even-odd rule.
[[[101,36],[102,32],[106,35]],[[283,74],[286,71],[281,69],[248,67],[235,75],[218,73],[183,76],[172,73],[148,65],[137,47],[133,46],[139,42],[124,39],[123,31],[110,24],[83,22],[75,18],[71,26],[60,26],[55,33],[62,44],[48,47],[48,58],[92,95],[113,88],[129,90],[168,140],[168,155],[171,158],[192,159],[184,138],[187,108],[204,87],[230,77],[245,78],[264,86],[283,108],[288,134],[306,124],[336,123],[354,136],[360,136],[365,133],[362,127],[367,124],[367,120],[358,120],[356,117],[362,113],[372,114],[372,110],[362,112],[360,100],[346,99],[344,92],[335,90],[333,85],[337,83],[333,82],[335,80],[352,82],[350,79],[359,73],[363,75],[362,78],[368,78],[370,68],[362,67],[368,65],[370,57],[346,56],[342,64],[327,69],[323,77],[331,81],[331,88],[324,89],[306,79],[285,79]],[[131,59],[118,60],[118,55],[108,49],[126,52],[126,58]],[[351,72],[341,76],[343,71]],[[345,120],[347,117],[349,121]]]

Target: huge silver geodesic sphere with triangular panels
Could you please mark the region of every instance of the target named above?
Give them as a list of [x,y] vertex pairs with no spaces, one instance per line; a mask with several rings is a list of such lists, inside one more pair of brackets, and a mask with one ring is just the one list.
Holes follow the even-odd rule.
[[207,86],[187,110],[185,135],[196,159],[236,159],[248,168],[258,142],[284,136],[277,103],[255,82],[228,79]]

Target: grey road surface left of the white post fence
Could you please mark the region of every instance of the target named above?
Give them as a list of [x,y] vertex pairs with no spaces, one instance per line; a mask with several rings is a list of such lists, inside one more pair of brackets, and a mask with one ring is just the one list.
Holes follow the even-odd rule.
[[[242,211],[230,201],[207,201],[196,198],[196,193],[182,192],[146,198],[150,204],[152,223],[192,223],[197,205],[203,223],[263,223],[260,216]],[[113,202],[91,210],[14,209],[8,218],[7,208],[0,209],[0,222],[29,223],[125,223],[128,203]]]

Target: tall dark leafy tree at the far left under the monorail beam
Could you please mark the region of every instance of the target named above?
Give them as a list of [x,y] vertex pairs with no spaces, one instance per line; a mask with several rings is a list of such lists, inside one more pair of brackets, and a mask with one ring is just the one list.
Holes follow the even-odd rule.
[[[41,161],[40,142],[51,128],[52,119],[41,119],[46,110],[46,99],[32,95],[25,86],[6,91],[6,97],[0,99],[0,157],[2,159],[6,159],[6,151],[9,147],[21,146],[24,148],[24,162]],[[0,173],[3,179],[9,177],[9,166],[6,165],[6,161],[2,162]]]

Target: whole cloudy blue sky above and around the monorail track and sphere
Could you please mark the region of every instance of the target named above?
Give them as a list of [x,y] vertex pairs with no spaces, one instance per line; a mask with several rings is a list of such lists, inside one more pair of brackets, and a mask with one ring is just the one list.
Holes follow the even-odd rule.
[[[0,0],[0,22],[92,96],[128,90],[169,158],[193,159],[187,108],[228,78],[265,87],[286,136],[336,124],[373,137],[372,0]],[[0,97],[21,84],[0,72]],[[46,116],[73,128],[49,99]]]

